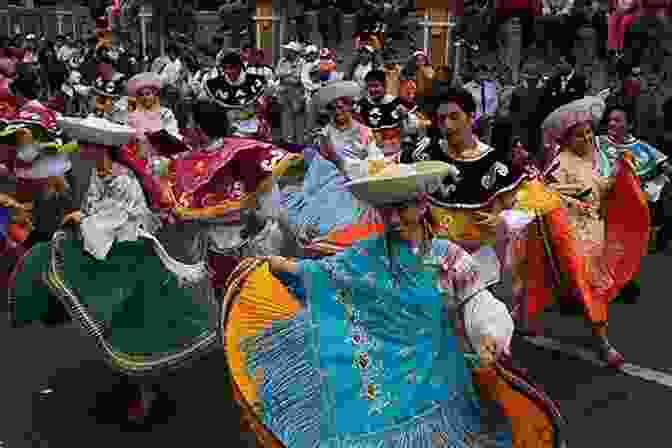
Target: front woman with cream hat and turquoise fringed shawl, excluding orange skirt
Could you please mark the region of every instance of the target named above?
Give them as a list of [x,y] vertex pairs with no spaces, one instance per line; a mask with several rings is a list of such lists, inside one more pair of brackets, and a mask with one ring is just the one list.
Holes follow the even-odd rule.
[[355,179],[347,186],[380,212],[384,234],[319,260],[268,257],[302,285],[304,306],[240,345],[259,418],[285,447],[513,446],[507,418],[484,418],[463,351],[492,366],[513,322],[474,259],[426,221],[424,193],[450,169],[390,165]]

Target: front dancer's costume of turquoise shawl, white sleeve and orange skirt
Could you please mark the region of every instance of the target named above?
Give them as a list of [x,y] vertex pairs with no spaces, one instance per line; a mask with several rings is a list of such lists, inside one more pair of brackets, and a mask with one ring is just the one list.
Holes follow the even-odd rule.
[[[406,179],[396,191],[406,201],[427,186]],[[240,265],[222,331],[236,399],[262,446],[560,446],[562,419],[547,397],[462,352],[484,334],[505,349],[506,307],[462,249],[427,243],[377,236],[302,260],[295,275]],[[450,324],[461,304],[464,333]],[[486,397],[500,411],[484,412]]]

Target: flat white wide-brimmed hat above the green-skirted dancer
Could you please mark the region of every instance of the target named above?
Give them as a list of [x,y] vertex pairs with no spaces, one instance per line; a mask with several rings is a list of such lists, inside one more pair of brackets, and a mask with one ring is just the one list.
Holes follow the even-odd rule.
[[137,134],[137,131],[130,126],[118,125],[102,118],[59,117],[56,121],[68,136],[104,146],[116,147],[128,144]]

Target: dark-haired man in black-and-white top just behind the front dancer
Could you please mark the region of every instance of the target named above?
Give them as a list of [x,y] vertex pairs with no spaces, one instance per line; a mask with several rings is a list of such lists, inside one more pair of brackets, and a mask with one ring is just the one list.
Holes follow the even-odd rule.
[[401,161],[438,160],[455,167],[459,175],[432,194],[435,231],[499,277],[500,269],[507,268],[506,251],[515,229],[525,225],[502,212],[518,207],[516,196],[535,173],[526,169],[525,151],[493,148],[474,135],[476,102],[467,90],[437,85],[426,107],[434,116],[429,135],[404,151]]

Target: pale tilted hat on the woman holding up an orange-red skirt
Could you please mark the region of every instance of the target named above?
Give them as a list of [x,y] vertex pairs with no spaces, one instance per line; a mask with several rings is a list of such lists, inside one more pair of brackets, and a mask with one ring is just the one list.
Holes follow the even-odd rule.
[[598,96],[587,96],[560,106],[541,125],[544,142],[559,143],[567,135],[567,131],[577,124],[599,123],[606,108],[604,100]]

